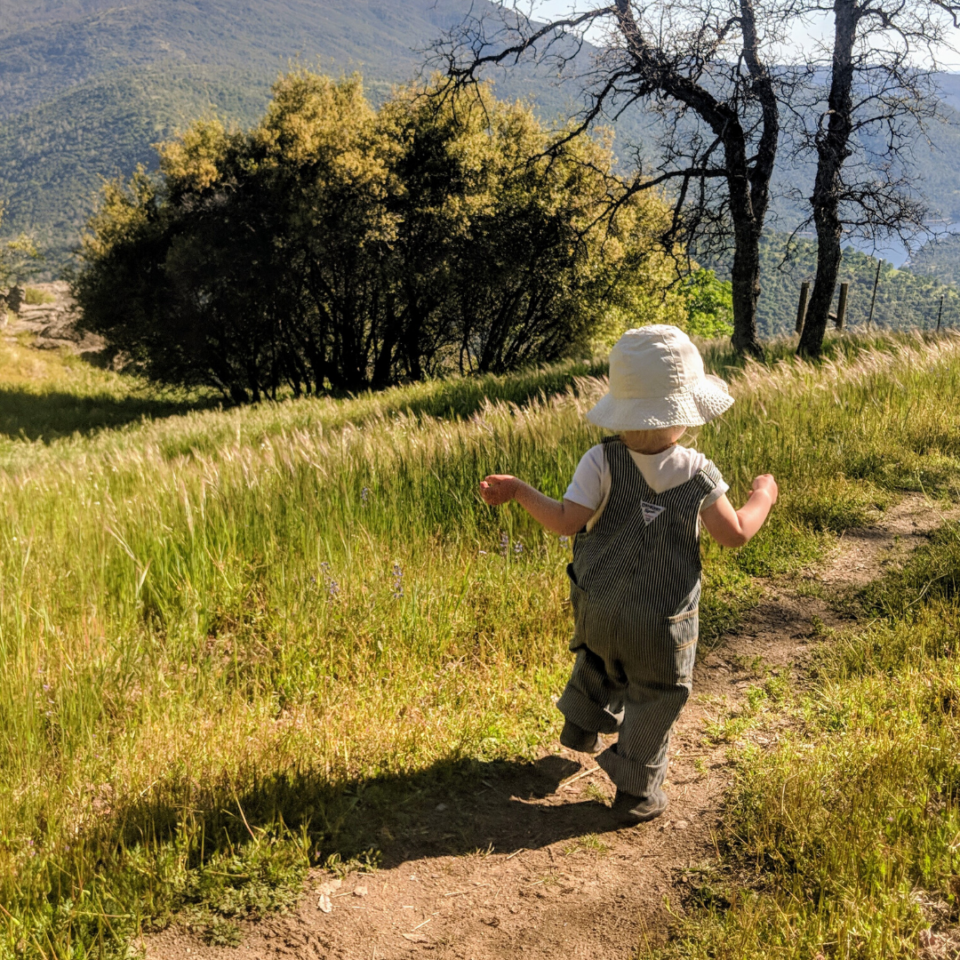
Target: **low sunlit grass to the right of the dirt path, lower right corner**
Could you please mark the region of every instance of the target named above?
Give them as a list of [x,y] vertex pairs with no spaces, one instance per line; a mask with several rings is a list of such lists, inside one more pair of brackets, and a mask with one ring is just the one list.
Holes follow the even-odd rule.
[[[660,955],[916,957],[960,896],[960,527],[856,603],[804,691],[763,688],[728,734],[785,712],[776,749],[740,748],[727,867]],[[749,736],[745,738],[749,741]],[[946,954],[945,954],[946,955]]]

